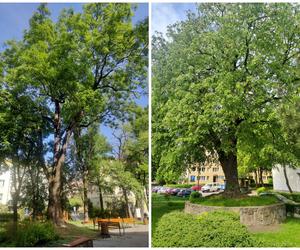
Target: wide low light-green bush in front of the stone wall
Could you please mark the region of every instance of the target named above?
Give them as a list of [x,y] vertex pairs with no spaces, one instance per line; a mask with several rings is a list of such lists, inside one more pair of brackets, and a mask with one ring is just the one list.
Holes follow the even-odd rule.
[[171,212],[161,217],[153,234],[154,247],[253,247],[260,243],[232,212],[214,211],[196,217]]

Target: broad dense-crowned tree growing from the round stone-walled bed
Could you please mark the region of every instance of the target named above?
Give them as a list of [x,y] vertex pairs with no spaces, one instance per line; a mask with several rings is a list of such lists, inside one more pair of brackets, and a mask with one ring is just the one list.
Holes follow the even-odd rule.
[[299,93],[299,13],[297,4],[199,4],[154,38],[157,167],[182,170],[216,152],[225,194],[239,195],[239,144]]

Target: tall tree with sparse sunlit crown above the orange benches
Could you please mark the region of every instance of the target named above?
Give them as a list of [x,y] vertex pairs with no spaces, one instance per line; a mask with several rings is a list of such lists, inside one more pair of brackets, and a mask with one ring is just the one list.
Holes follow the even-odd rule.
[[17,63],[4,74],[4,82],[17,78],[15,88],[51,128],[53,159],[45,173],[48,217],[56,224],[63,222],[62,170],[74,130],[122,116],[144,85],[147,21],[134,26],[131,16],[130,4],[97,3],[84,5],[83,13],[64,10],[53,22],[42,4],[12,54]]

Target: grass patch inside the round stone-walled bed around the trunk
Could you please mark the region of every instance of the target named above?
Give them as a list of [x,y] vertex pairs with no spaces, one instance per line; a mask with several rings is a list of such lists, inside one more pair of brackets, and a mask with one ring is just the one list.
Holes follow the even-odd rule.
[[224,198],[219,195],[205,197],[195,200],[193,203],[199,203],[206,206],[224,206],[224,207],[247,207],[247,206],[266,206],[278,203],[274,196],[248,196],[244,198]]

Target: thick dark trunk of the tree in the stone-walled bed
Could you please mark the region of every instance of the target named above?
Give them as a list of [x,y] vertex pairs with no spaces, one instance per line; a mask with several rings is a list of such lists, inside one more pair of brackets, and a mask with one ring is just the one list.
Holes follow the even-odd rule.
[[224,195],[237,197],[241,194],[238,181],[237,156],[235,153],[218,152],[219,160],[225,174],[226,187]]

